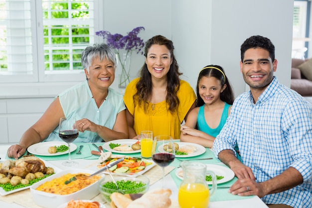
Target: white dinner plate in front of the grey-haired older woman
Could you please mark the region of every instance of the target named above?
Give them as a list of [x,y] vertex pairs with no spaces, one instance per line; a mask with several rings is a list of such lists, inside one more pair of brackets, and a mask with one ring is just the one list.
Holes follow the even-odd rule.
[[[58,152],[51,154],[48,152],[49,147],[58,147],[61,145],[67,145],[66,142],[58,142],[58,141],[52,141],[52,142],[40,142],[33,145],[30,145],[27,148],[27,151],[34,155],[41,155],[41,156],[57,156],[57,155],[65,155],[68,154],[68,150],[65,152]],[[73,152],[77,149],[77,146],[74,143],[70,143],[70,152]]]

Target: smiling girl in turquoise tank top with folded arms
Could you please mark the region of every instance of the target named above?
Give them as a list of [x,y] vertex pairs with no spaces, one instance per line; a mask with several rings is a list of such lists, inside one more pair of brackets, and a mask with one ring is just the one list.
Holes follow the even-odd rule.
[[180,141],[211,148],[234,102],[233,90],[223,68],[209,65],[201,69],[196,93],[197,105],[181,126]]

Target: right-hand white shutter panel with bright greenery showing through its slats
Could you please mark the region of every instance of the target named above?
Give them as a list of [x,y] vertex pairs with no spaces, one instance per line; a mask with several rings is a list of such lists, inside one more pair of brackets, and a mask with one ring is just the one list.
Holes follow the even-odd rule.
[[93,0],[43,0],[45,73],[80,72],[81,52],[94,42]]

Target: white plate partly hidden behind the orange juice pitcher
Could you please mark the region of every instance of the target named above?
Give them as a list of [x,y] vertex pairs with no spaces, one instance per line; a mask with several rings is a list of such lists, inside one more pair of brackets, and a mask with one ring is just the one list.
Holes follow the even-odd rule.
[[[206,164],[206,166],[207,166],[207,171],[212,171],[217,176],[224,176],[223,179],[217,180],[217,184],[222,184],[222,183],[231,181],[235,176],[234,172],[227,167],[219,166],[219,165],[213,165],[213,164]],[[183,180],[183,177],[181,176],[180,172],[183,173],[182,168],[176,169],[175,175],[179,179]],[[211,185],[212,182],[207,181],[207,184]]]

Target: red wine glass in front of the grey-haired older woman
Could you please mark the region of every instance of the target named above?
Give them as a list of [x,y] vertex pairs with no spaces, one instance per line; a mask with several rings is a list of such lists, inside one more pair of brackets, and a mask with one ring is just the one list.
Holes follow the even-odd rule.
[[77,166],[78,163],[72,161],[70,158],[70,144],[78,137],[78,130],[76,128],[76,119],[66,117],[60,118],[60,125],[58,136],[68,144],[68,161],[62,163],[63,166]]

